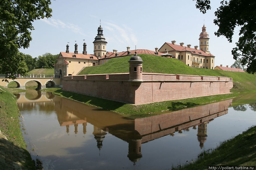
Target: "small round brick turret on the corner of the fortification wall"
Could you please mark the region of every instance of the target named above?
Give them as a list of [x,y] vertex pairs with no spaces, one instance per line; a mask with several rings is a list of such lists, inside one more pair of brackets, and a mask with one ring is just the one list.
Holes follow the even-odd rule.
[[139,86],[142,83],[142,59],[140,56],[135,55],[130,58],[129,62],[129,81],[132,82],[132,85]]

